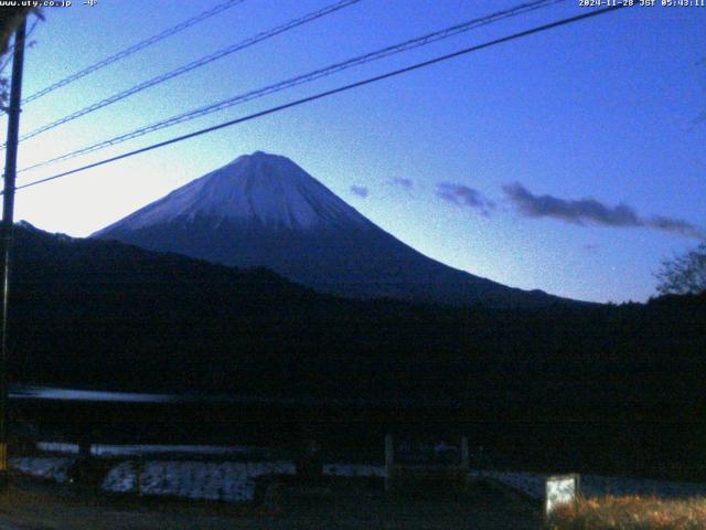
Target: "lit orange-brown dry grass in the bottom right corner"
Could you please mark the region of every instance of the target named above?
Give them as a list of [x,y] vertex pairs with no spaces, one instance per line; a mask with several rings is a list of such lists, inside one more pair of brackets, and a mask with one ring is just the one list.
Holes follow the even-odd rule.
[[665,500],[657,497],[579,499],[557,508],[548,530],[696,530],[706,529],[706,497]]

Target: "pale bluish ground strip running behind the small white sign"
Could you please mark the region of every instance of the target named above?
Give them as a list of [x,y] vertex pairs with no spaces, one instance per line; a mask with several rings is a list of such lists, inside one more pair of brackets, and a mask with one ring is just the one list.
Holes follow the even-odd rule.
[[[537,473],[477,470],[469,474],[469,478],[471,479],[489,478],[517,489],[534,499],[544,498],[544,481],[550,475]],[[706,484],[581,475],[581,492],[587,497],[642,495],[665,498],[686,498],[706,496]]]

